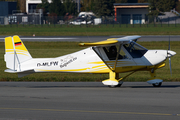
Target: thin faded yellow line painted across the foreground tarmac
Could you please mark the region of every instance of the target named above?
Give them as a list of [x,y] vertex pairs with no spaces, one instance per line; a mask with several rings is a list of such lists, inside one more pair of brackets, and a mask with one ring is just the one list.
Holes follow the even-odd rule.
[[113,114],[132,114],[132,115],[161,115],[161,116],[180,116],[180,114],[168,113],[141,113],[141,112],[116,112],[116,111],[88,111],[88,110],[61,110],[61,109],[36,109],[36,108],[0,108],[1,110],[32,110],[32,111],[53,111],[53,112],[79,112],[79,113],[113,113]]

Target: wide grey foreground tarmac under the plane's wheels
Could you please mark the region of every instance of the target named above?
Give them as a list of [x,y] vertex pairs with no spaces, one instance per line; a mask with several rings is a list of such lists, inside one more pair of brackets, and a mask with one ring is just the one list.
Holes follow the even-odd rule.
[[179,120],[180,82],[0,82],[0,120]]

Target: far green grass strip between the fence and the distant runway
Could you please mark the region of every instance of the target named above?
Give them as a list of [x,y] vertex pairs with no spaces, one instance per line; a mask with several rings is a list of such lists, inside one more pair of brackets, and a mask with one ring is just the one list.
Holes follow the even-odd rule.
[[19,36],[110,36],[110,35],[180,35],[180,24],[143,25],[7,25],[0,35]]

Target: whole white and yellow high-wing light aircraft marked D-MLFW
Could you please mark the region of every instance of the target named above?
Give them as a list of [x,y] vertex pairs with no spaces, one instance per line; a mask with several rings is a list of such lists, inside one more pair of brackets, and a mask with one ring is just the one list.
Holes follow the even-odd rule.
[[[170,50],[148,50],[136,43],[141,36],[111,38],[93,43],[78,52],[56,58],[32,58],[18,36],[5,38],[5,72],[18,73],[23,77],[35,72],[109,73],[109,79],[102,83],[109,87],[122,85],[122,80],[136,71],[149,71],[147,82],[154,87],[163,80],[156,77],[156,69],[165,66],[165,60],[176,54]],[[170,66],[171,68],[171,66]],[[170,69],[171,70],[171,69]],[[120,78],[119,73],[130,72]]]

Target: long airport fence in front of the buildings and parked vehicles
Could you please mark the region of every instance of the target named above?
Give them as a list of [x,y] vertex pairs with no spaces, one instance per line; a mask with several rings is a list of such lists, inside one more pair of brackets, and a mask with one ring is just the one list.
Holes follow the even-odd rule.
[[111,27],[180,27],[180,16],[102,16],[84,17],[74,16],[40,16],[36,15],[10,15],[0,16],[0,27],[9,25],[19,26],[111,26]]

